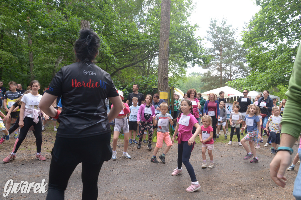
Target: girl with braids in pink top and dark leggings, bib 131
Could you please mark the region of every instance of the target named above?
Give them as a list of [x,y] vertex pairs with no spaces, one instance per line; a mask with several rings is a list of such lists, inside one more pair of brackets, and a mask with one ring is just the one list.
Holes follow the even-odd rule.
[[[192,127],[196,128],[192,134]],[[182,163],[184,163],[188,174],[191,178],[191,186],[186,188],[186,192],[194,192],[201,188],[200,183],[194,174],[194,169],[189,162],[191,151],[194,147],[194,139],[199,135],[201,127],[195,119],[192,110],[192,103],[189,99],[184,99],[181,102],[181,112],[178,116],[175,133],[172,136],[172,143],[175,142],[175,136],[178,134],[178,167],[172,172],[172,176],[182,173]]]

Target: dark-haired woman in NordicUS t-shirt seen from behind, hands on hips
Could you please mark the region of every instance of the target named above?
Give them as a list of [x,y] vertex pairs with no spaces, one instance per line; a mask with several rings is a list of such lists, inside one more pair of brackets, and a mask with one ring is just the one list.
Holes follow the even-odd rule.
[[[111,159],[109,121],[123,106],[110,74],[92,62],[98,54],[99,41],[92,29],[80,31],[74,45],[78,62],[57,72],[40,101],[39,107],[60,123],[51,151],[46,199],[64,199],[68,180],[79,163],[82,199],[97,199],[101,166]],[[51,104],[61,95],[64,109],[60,114]],[[108,115],[106,98],[114,105]]]

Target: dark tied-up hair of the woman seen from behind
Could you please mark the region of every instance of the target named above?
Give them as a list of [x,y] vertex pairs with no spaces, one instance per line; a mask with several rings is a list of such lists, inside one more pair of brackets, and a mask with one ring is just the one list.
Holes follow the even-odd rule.
[[83,29],[79,32],[79,38],[74,44],[77,59],[80,61],[92,61],[98,54],[100,39],[92,29]]

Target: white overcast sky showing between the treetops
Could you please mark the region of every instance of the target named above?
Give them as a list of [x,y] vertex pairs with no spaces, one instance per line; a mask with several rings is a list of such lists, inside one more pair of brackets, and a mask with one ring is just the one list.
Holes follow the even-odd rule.
[[[260,7],[254,5],[254,0],[215,0],[203,1],[193,0],[196,5],[194,12],[191,14],[191,23],[198,24],[199,29],[196,32],[197,36],[205,38],[211,18],[227,19],[227,23],[231,24],[237,33],[235,36],[240,35],[244,22],[249,22],[251,17],[260,10]],[[241,39],[238,37],[237,39]],[[206,39],[203,41],[206,42]],[[205,47],[210,47],[211,43],[204,44]],[[187,75],[193,71],[202,71],[201,67],[195,66],[188,68]]]

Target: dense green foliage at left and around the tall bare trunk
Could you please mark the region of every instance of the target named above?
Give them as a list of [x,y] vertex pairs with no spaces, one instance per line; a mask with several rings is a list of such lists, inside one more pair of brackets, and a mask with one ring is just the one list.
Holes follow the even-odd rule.
[[[2,1],[0,79],[28,85],[31,75],[28,52],[32,51],[34,78],[41,82],[41,88],[48,86],[62,66],[76,61],[73,45],[80,20],[84,19],[101,38],[96,65],[115,81],[124,80],[120,81],[123,89],[137,81],[136,77],[141,82],[149,80],[158,71],[160,4],[160,0]],[[197,25],[187,20],[193,8],[191,0],[171,3],[169,83],[172,85],[185,76],[188,66],[208,62],[201,39],[195,37]],[[55,66],[61,56],[63,60]],[[155,86],[153,80],[150,82]],[[149,92],[147,86],[143,91]]]

